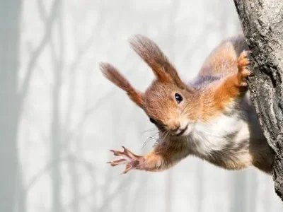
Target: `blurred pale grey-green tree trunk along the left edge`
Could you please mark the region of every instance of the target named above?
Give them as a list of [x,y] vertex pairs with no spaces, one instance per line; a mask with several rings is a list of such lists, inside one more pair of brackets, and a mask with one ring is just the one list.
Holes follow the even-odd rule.
[[0,1],[0,211],[13,211],[18,175],[17,93],[21,1]]

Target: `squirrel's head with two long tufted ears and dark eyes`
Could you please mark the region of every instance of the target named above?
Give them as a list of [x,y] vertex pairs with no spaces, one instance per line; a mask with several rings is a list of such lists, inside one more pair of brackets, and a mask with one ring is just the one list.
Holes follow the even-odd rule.
[[152,40],[136,35],[130,40],[130,45],[156,76],[146,92],[142,93],[132,87],[110,64],[100,64],[104,76],[125,90],[129,98],[146,112],[160,131],[168,131],[172,136],[186,136],[198,117],[199,93],[181,81],[175,67]]

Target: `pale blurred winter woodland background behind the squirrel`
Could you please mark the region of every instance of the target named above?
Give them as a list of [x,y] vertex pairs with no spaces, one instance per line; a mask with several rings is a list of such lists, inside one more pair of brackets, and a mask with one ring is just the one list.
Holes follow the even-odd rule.
[[137,33],[189,81],[241,27],[232,0],[0,1],[0,211],[281,211],[272,177],[253,168],[189,157],[120,175],[106,164],[110,149],[144,154],[157,136],[98,70],[108,61],[149,86],[153,74],[127,43]]

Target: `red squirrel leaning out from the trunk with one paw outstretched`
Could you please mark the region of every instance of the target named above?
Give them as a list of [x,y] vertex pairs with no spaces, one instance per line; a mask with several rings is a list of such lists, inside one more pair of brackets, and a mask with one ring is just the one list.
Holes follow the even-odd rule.
[[243,35],[221,42],[209,54],[195,80],[182,81],[156,43],[143,35],[129,41],[154,72],[156,79],[142,93],[111,64],[101,63],[104,76],[125,90],[156,125],[159,139],[146,155],[135,155],[124,146],[112,151],[129,170],[158,172],[188,155],[227,170],[251,165],[270,174],[273,153],[260,129],[250,102],[246,79],[252,74],[248,45]]

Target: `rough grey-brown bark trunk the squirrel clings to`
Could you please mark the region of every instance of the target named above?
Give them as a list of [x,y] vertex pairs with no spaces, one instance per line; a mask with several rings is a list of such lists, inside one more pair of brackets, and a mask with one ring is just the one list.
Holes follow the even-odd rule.
[[272,175],[283,200],[283,2],[234,0],[243,33],[252,51],[254,76],[250,97],[262,131],[275,152]]

